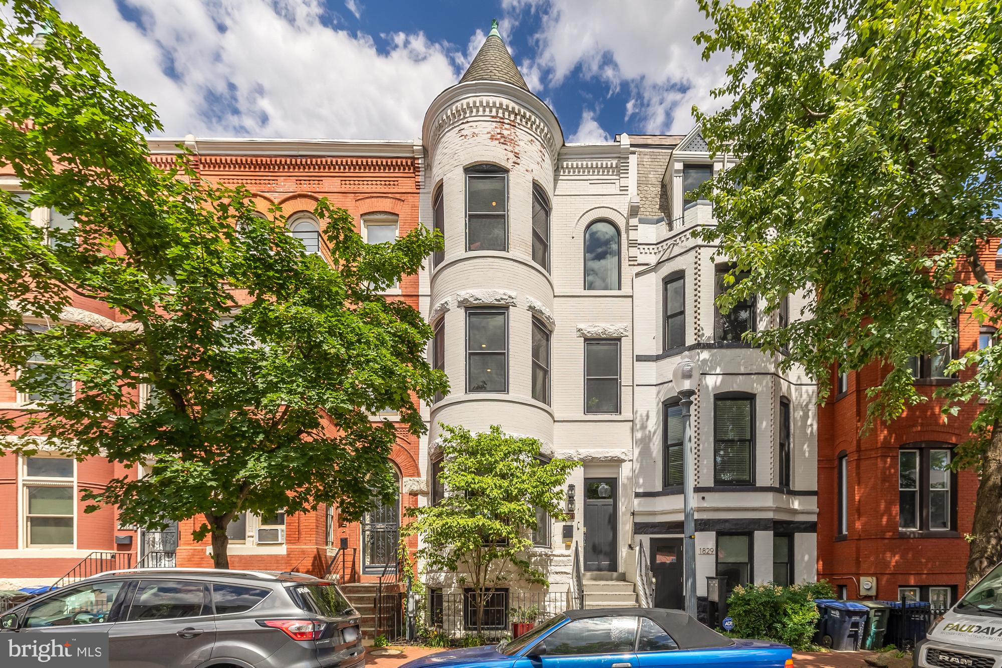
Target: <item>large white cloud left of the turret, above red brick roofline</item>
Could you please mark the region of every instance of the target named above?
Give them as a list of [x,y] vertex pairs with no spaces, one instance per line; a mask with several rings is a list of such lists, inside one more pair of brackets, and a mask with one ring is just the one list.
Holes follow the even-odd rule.
[[324,25],[321,0],[128,4],[142,29],[114,0],[58,1],[169,135],[416,139],[457,79],[446,46],[395,33],[381,53],[365,33]]

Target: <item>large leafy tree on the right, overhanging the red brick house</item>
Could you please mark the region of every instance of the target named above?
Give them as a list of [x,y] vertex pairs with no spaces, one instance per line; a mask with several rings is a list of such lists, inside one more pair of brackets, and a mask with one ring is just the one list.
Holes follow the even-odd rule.
[[[997,0],[699,0],[715,24],[704,57],[729,52],[696,112],[710,149],[739,156],[704,193],[717,226],[703,238],[747,270],[726,308],[810,295],[803,319],[749,335],[786,368],[802,364],[822,401],[830,369],[876,363],[868,425],[928,398],[909,359],[942,349],[954,317],[998,326],[1000,294],[983,257],[1002,201],[1002,3]],[[710,193],[711,189],[711,193]],[[957,466],[981,472],[968,582],[1002,560],[1002,348],[952,363],[945,417],[984,401]]]

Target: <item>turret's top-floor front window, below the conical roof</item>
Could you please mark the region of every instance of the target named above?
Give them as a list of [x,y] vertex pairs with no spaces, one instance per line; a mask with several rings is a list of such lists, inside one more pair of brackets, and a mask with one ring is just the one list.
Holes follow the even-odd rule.
[[496,165],[466,169],[466,249],[508,249],[508,172]]

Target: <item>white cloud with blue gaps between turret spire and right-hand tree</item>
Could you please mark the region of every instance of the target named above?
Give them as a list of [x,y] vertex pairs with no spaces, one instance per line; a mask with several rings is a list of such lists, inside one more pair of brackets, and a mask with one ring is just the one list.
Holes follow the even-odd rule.
[[623,120],[643,132],[688,131],[693,104],[719,106],[709,94],[723,77],[719,56],[704,62],[692,36],[708,26],[691,0],[504,0],[510,14],[537,11],[535,64],[559,85],[575,69],[582,76],[630,92]]

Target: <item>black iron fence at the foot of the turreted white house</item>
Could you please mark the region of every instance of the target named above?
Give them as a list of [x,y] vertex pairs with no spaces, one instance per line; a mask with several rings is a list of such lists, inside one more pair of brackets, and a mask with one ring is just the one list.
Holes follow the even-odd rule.
[[403,595],[408,639],[428,641],[437,636],[456,641],[481,635],[501,640],[511,636],[513,622],[539,623],[581,605],[581,599],[571,592],[497,589],[484,594],[482,606],[478,599],[471,590],[430,589],[426,594]]

